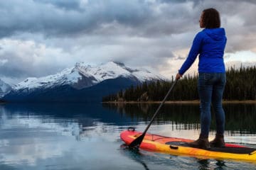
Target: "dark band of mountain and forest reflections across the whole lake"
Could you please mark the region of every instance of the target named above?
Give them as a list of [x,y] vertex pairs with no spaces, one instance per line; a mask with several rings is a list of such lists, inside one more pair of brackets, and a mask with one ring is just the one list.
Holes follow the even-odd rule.
[[[0,127],[6,118],[40,118],[42,123],[59,123],[65,126],[68,122],[78,123],[82,131],[86,127],[94,127],[102,122],[114,125],[147,123],[158,108],[159,104],[8,104],[0,106]],[[225,129],[230,134],[256,133],[256,105],[255,104],[225,104]],[[198,104],[166,104],[161,108],[154,124],[173,124],[177,130],[198,130]],[[214,121],[214,114],[213,114]],[[215,130],[212,121],[211,130]]]

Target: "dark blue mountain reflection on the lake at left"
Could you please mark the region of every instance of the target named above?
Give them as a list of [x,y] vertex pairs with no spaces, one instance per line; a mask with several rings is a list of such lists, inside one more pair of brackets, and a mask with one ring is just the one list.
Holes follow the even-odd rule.
[[[101,103],[36,103],[36,104],[4,104],[0,105],[1,116],[6,118],[40,118],[43,123],[54,121],[63,123],[74,121],[82,127],[94,126],[95,122],[116,123],[122,125],[131,121],[131,118],[116,114],[115,111],[103,108]],[[48,122],[50,123],[50,122]],[[1,126],[1,122],[0,122]]]

